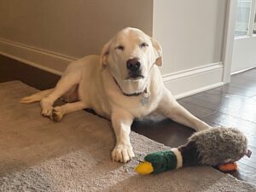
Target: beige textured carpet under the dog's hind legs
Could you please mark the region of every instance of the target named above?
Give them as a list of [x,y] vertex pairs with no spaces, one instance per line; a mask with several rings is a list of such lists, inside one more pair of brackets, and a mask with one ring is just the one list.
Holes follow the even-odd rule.
[[167,147],[131,132],[136,158],[112,162],[108,120],[79,111],[54,123],[38,103],[19,103],[35,91],[19,81],[0,84],[0,191],[256,191],[207,166],[138,176],[137,160]]

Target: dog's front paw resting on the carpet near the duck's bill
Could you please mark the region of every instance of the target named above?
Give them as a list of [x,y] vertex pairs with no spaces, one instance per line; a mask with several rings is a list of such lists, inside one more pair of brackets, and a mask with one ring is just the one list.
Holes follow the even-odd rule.
[[117,144],[112,151],[112,160],[126,163],[134,157],[131,144]]

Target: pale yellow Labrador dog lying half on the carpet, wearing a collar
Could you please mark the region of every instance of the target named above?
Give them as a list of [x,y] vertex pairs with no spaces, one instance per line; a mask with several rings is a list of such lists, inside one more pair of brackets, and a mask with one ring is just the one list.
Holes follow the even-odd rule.
[[[136,28],[125,28],[104,45],[101,55],[73,61],[52,90],[27,96],[21,102],[40,101],[42,114],[59,121],[66,113],[92,108],[111,119],[116,136],[112,159],[127,162],[134,157],[131,123],[153,112],[162,113],[196,131],[210,128],[177,103],[162,82],[160,44]],[[53,107],[64,96],[67,104]]]

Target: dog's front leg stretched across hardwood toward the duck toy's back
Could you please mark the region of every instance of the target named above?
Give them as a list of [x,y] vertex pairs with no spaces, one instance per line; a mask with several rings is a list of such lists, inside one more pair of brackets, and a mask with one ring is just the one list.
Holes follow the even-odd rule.
[[165,90],[162,101],[160,102],[160,113],[166,117],[176,121],[177,123],[186,125],[195,129],[195,131],[206,130],[211,128],[201,119],[196,118],[193,114],[183,106],[181,106],[172,96],[169,90]]

